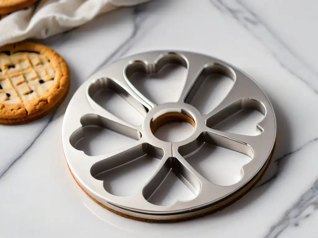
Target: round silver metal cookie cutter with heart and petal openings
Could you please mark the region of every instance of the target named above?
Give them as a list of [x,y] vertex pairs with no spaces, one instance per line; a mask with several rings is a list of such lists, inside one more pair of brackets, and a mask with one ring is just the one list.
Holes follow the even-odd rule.
[[[143,96],[130,82],[136,72],[158,72],[169,63],[187,68],[188,75],[177,102],[156,105]],[[234,81],[225,99],[207,115],[201,115],[189,102],[204,79],[212,73],[229,76]],[[142,125],[123,121],[93,101],[103,88],[119,93],[145,115]],[[211,129],[218,122],[250,108],[265,117],[257,127],[258,136],[245,136]],[[163,124],[175,121],[191,123],[194,133],[187,139],[171,143],[159,140],[154,132]],[[98,125],[138,139],[131,146],[98,156],[88,156],[75,149],[83,137],[82,128]],[[223,208],[244,195],[265,172],[276,137],[276,119],[271,103],[259,86],[245,73],[219,59],[190,52],[154,51],[124,58],[102,69],[74,94],[65,113],[62,142],[69,169],[80,187],[100,205],[114,212],[143,221],[175,221],[199,216]],[[211,143],[248,155],[252,160],[242,167],[242,178],[230,186],[213,184],[200,175],[185,158],[204,143]],[[100,173],[129,163],[144,155],[160,158],[160,163],[147,181],[133,194],[115,196],[95,179]],[[169,206],[154,205],[149,198],[169,172],[196,195],[190,201],[177,200]]]

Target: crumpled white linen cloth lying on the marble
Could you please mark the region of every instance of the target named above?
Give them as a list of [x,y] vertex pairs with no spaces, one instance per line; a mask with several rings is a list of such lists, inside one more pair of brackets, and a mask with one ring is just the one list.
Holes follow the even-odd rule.
[[1,16],[0,46],[28,38],[43,39],[82,25],[101,13],[149,0],[43,0]]

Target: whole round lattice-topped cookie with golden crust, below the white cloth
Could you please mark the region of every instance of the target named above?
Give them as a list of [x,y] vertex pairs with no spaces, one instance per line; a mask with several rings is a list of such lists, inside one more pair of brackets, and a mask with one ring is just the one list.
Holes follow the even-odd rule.
[[23,124],[47,115],[68,89],[68,66],[54,50],[31,42],[0,47],[0,124]]

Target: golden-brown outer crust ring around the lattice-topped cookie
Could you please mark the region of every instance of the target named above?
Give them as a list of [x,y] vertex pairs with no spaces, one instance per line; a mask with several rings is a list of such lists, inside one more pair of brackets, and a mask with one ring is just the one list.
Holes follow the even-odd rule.
[[[69,88],[69,69],[64,59],[58,53],[44,45],[31,42],[8,44],[0,47],[1,52],[10,53],[10,55],[17,52],[25,52],[24,54],[36,52],[48,60],[50,66],[55,70],[55,75],[52,86],[50,86],[44,95],[19,103],[0,102],[0,124],[10,125],[30,122],[32,119],[35,120],[45,116],[46,112],[52,111],[61,103],[61,100],[63,101]],[[3,72],[0,72],[0,77],[4,78],[5,76],[2,74]]]

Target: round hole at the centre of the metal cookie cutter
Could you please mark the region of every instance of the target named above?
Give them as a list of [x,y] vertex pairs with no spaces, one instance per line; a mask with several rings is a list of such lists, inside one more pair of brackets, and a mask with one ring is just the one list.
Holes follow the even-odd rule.
[[180,112],[169,112],[150,122],[151,132],[159,140],[179,142],[190,137],[195,129],[194,120]]

